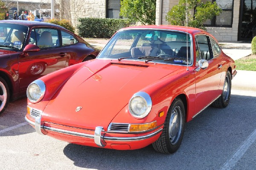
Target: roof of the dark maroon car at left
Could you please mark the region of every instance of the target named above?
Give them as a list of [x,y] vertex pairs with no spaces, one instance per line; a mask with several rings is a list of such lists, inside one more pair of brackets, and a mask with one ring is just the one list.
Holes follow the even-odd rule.
[[[30,21],[30,20],[0,20],[0,23],[14,23],[14,24],[19,24],[23,26],[28,26],[28,27],[33,27],[33,26],[52,26],[52,27],[57,27],[61,29],[65,29],[62,26],[53,24],[53,23],[46,23],[46,22],[39,22],[39,21]],[[65,29],[67,30],[67,29]]]

